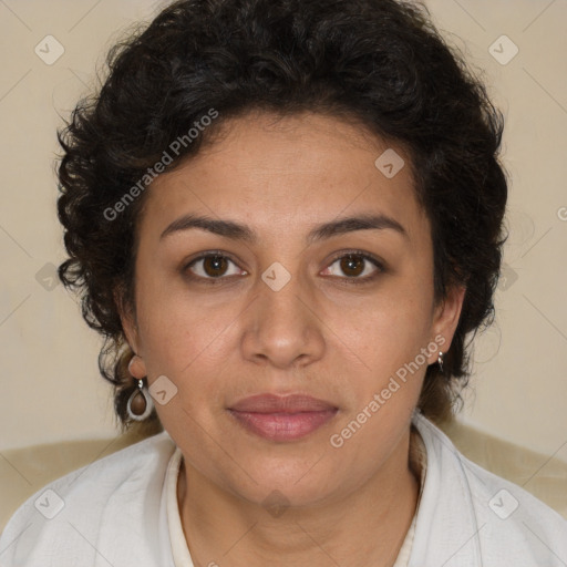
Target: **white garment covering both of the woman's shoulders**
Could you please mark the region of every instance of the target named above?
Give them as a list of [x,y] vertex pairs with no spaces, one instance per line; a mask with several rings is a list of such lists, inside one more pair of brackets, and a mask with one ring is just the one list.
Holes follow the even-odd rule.
[[[409,567],[567,565],[559,514],[465,458],[425,417],[413,423],[427,468]],[[175,450],[163,432],[50,483],[8,523],[0,566],[175,567],[181,522],[168,522],[167,494],[176,474],[166,482]],[[192,566],[188,551],[183,560]]]

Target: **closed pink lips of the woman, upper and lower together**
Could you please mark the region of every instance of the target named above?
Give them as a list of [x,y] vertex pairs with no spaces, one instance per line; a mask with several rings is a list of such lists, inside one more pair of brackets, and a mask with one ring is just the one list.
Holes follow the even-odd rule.
[[269,441],[296,441],[334,417],[339,409],[309,395],[259,394],[238,401],[228,412],[248,432]]

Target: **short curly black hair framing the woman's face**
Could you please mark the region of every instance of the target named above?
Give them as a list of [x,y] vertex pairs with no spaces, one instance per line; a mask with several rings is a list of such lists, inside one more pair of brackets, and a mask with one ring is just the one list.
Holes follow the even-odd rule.
[[[105,338],[99,367],[115,386],[122,427],[135,385],[117,305],[135,313],[136,221],[147,193],[137,192],[114,220],[116,203],[212,109],[215,123],[165,171],[254,110],[348,118],[408,151],[432,227],[435,299],[466,286],[443,372],[427,368],[419,401],[426,416],[450,417],[470,377],[468,338],[494,318],[507,198],[504,120],[427,9],[395,0],[182,0],[116,43],[107,66],[96,93],[58,132],[58,212],[69,252],[59,275]],[[159,431],[155,411],[151,423]]]

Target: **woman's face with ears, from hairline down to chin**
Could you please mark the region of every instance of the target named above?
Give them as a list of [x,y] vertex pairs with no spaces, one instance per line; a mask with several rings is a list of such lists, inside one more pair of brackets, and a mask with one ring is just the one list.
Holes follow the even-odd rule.
[[[389,148],[393,177],[374,165]],[[185,466],[249,502],[316,504],[406,464],[463,290],[434,302],[402,148],[336,117],[248,115],[147,190],[123,323]],[[258,394],[322,403],[243,405]]]

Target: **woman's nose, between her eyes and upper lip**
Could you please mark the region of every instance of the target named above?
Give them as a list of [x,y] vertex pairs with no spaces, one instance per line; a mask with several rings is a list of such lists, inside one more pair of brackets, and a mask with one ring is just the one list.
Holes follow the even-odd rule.
[[278,369],[303,367],[324,352],[321,313],[307,286],[291,276],[278,291],[261,279],[245,311],[243,354],[255,363]]

